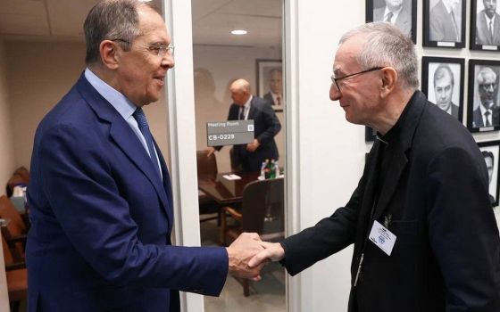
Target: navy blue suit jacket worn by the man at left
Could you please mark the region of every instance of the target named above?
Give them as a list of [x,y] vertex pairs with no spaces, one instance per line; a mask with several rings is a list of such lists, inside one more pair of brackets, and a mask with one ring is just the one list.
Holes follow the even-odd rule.
[[29,311],[179,311],[218,295],[223,248],[171,246],[163,180],[129,124],[82,75],[37,128],[27,246]]

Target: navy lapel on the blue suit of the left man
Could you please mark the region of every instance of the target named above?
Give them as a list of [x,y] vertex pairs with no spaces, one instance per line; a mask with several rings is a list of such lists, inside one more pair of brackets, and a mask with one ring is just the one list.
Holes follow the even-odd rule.
[[[149,179],[162,201],[163,209],[165,209],[165,212],[171,218],[168,209],[170,205],[162,181],[158,177],[153,162],[149,158],[144,146],[140,143],[137,135],[130,128],[127,121],[121,118],[118,111],[88,83],[83,74],[77,82],[77,89],[92,110],[96,112],[96,115],[111,124],[110,135],[112,139],[120,147],[121,151],[129,157],[129,160]],[[156,148],[156,151],[158,152],[159,149]]]

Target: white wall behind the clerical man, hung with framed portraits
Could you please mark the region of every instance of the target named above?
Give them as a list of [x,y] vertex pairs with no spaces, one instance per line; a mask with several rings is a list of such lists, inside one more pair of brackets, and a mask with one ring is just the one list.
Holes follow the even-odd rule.
[[[298,14],[300,140],[300,227],[314,225],[346,203],[362,175],[363,127],[346,122],[337,102],[329,101],[329,75],[338,39],[346,30],[364,22],[364,0],[296,1]],[[421,48],[422,3],[418,1],[417,52],[422,55],[497,60],[496,53],[468,49]],[[467,7],[467,16],[470,16]],[[469,42],[469,17],[466,41]],[[467,61],[467,60],[466,60]],[[466,62],[467,63],[467,62]],[[465,68],[467,84],[467,66]],[[419,73],[419,77],[421,74]],[[467,94],[464,94],[467,99]],[[466,100],[465,100],[466,101]],[[474,135],[495,140],[498,132]],[[500,212],[496,213],[498,218]],[[352,247],[305,270],[302,275],[300,311],[346,311],[350,285]]]

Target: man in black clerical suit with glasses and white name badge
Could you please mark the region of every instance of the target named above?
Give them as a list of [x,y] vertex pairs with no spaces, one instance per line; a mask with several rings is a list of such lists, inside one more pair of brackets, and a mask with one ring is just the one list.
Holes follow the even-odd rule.
[[346,207],[261,242],[249,265],[281,260],[296,275],[354,243],[350,312],[500,311],[485,161],[470,132],[417,90],[412,40],[385,22],[363,25],[341,38],[333,69],[330,98],[380,136]]

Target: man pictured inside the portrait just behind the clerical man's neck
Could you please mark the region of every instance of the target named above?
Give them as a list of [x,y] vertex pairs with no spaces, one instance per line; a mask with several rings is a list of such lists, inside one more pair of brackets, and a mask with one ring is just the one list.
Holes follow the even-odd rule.
[[452,102],[454,91],[454,74],[446,63],[439,64],[434,71],[434,94],[436,105],[458,119],[458,105]]

